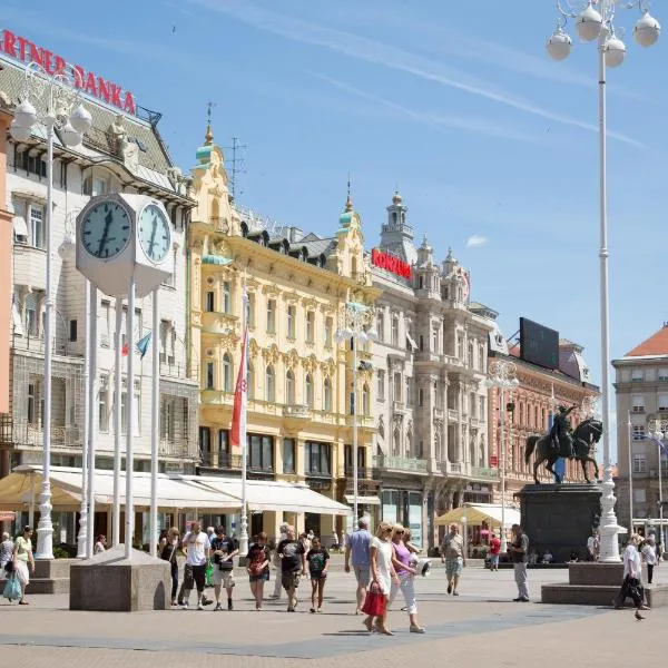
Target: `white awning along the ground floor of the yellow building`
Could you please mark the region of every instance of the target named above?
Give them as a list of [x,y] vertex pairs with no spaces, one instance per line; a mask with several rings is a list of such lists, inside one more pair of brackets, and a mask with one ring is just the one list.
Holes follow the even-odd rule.
[[[207,487],[242,498],[239,478],[198,478]],[[274,510],[285,512],[313,512],[320,514],[350,514],[351,509],[318,494],[305,484],[266,480],[246,481],[246,499],[249,510]]]

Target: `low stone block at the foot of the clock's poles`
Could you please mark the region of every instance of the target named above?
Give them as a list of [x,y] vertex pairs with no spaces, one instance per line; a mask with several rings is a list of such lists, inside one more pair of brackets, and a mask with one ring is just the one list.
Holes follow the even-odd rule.
[[170,593],[169,563],[139,550],[128,560],[125,546],[70,567],[70,610],[167,610]]

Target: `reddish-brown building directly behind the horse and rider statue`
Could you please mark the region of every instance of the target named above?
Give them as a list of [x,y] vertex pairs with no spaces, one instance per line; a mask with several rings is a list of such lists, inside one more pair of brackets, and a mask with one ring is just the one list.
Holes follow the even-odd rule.
[[[527,438],[547,433],[551,425],[551,415],[560,405],[577,406],[569,416],[572,426],[588,416],[588,411],[599,396],[599,387],[590,383],[590,372],[582,356],[582,346],[559,340],[559,365],[546,369],[522,358],[519,344],[509,346],[504,336],[497,331],[490,340],[490,363],[495,360],[513,362],[517,367],[519,385],[504,392],[504,406],[500,405],[501,393],[490,390],[490,463],[498,469],[502,465],[501,452],[505,452],[505,503],[518,504],[515,498],[525,484],[533,484],[533,463],[536,453],[525,461]],[[504,434],[501,442],[501,411],[504,415]],[[504,450],[503,450],[504,448]],[[599,449],[600,450],[600,449]],[[601,453],[597,455],[600,458]],[[602,463],[599,461],[599,464]],[[567,482],[584,482],[579,461],[564,462]],[[589,478],[598,477],[589,464]],[[552,477],[541,465],[539,480],[553,482]],[[501,488],[494,488],[494,502],[501,501]]]

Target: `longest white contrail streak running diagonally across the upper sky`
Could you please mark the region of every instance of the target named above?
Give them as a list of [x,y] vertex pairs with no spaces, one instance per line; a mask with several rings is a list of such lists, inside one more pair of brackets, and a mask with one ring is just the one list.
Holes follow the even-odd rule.
[[[272,12],[253,6],[246,0],[243,0],[243,2],[239,0],[190,0],[190,2],[234,17],[238,21],[253,26],[258,30],[278,35],[293,41],[323,47],[331,51],[356,58],[357,60],[364,60],[373,65],[413,75],[420,79],[482,97],[553,122],[577,127],[591,132],[599,131],[598,126],[595,124],[584,122],[577,118],[539,107],[529,100],[494,87],[489,81],[475,79],[456,68],[444,66],[431,58],[424,58],[402,50],[395,45],[385,45],[343,30],[327,28],[301,19],[293,19],[285,13]],[[640,141],[620,132],[608,131],[608,136],[636,148],[647,148]]]

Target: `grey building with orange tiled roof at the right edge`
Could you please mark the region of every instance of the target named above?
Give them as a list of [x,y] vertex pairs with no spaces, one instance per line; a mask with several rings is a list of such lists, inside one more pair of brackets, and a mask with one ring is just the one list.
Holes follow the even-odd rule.
[[[655,435],[668,432],[668,323],[612,361],[617,399],[617,517],[630,527],[629,479],[633,520],[659,524],[659,502],[668,500],[668,458]],[[630,423],[630,426],[629,426]],[[660,436],[665,446],[666,436]],[[659,468],[660,466],[660,468]],[[660,488],[662,488],[661,491]],[[668,513],[664,509],[664,515]]]

